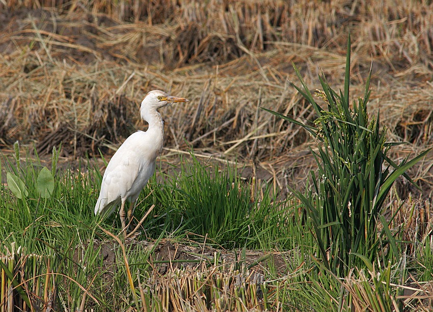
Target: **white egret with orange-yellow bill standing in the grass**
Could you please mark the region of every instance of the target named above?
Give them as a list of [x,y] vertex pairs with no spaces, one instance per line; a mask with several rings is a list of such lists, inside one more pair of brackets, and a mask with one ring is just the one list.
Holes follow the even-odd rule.
[[141,190],[155,172],[156,157],[163,149],[164,122],[158,108],[177,102],[187,102],[159,90],[150,91],[143,99],[140,115],[147,121],[147,131],[131,134],[111,158],[102,178],[95,215],[110,215],[119,206],[122,231],[125,231],[125,202],[130,201],[129,221]]

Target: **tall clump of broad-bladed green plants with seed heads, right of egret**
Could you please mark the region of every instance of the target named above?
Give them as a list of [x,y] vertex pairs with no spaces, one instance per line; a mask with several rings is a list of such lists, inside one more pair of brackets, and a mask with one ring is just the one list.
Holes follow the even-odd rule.
[[[379,113],[372,118],[367,114],[371,70],[364,96],[350,104],[350,36],[344,90],[334,91],[326,78],[319,76],[323,90],[316,96],[327,104],[327,110],[316,103],[294,69],[303,89],[292,86],[313,106],[317,114],[314,126],[268,111],[304,127],[317,142],[318,152],[312,153],[318,170],[311,172],[312,187],[306,194],[294,193],[308,212],[321,263],[334,274],[346,276],[351,268],[362,268],[378,256],[383,261],[389,257],[399,260],[396,239],[383,216],[385,200],[401,175],[414,183],[405,171],[429,150],[400,164],[388,158],[389,149],[397,144],[386,142],[386,128],[381,127]],[[382,229],[379,233],[378,224]]]

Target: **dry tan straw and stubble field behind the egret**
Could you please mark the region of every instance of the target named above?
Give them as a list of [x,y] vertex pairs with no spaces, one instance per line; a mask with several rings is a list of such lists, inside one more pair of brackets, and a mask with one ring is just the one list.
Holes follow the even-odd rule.
[[206,152],[268,160],[307,137],[257,106],[310,118],[285,81],[292,77],[290,61],[306,64],[307,81],[317,84],[320,67],[338,86],[350,30],[353,81],[360,86],[373,55],[372,112],[390,111],[384,123],[394,139],[431,144],[433,10],[427,3],[385,2],[374,10],[368,2],[345,1],[51,3],[6,5],[0,40],[5,143],[40,143],[61,129],[65,146],[118,144],[130,124],[142,127],[136,112],[143,95],[164,89],[193,100],[165,111],[168,146],[184,146],[185,136]]

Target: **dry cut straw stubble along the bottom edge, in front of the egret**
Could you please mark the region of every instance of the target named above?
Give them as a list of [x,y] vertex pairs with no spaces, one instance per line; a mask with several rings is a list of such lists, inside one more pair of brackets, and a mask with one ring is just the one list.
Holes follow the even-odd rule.
[[[105,244],[110,246],[108,250],[111,250],[112,254],[109,258],[112,259],[105,260],[104,252],[107,249],[105,248],[105,251],[103,251],[104,248],[102,248],[101,256],[104,254],[103,262],[104,264],[107,262],[107,267],[100,268],[100,270],[106,272],[104,273],[107,275],[105,276],[107,279],[106,287],[110,288],[113,285],[111,281],[113,276],[109,277],[109,275],[113,273],[109,272],[119,270],[123,260],[122,256],[116,258],[112,251],[114,245],[116,245],[114,241],[108,241]],[[150,245],[152,244],[147,245],[145,248],[150,248]],[[168,245],[173,249],[166,251],[167,253],[164,256],[162,251]],[[143,242],[138,242],[137,247],[142,250],[144,247]],[[207,248],[206,254],[209,251]],[[160,244],[158,249],[159,256],[167,260],[151,260],[149,263],[153,270],[150,270],[148,278],[141,279],[140,274],[137,273],[138,285],[134,288],[140,300],[137,310],[283,311],[287,308],[299,310],[295,306],[291,306],[290,292],[296,291],[299,283],[296,280],[307,274],[308,266],[303,265],[286,272],[281,277],[269,279],[269,276],[273,275],[266,271],[266,266],[262,266],[259,260],[259,262],[250,265],[245,260],[237,260],[237,257],[240,257],[240,251],[238,255],[235,253],[235,258],[228,254],[227,251],[224,251],[226,253],[224,256],[222,254],[218,256],[219,252],[214,251],[211,257],[203,256],[203,253],[192,253],[196,259],[199,259],[193,263],[188,262],[183,257],[181,257],[183,260],[177,259],[177,252],[183,253],[187,250],[182,250],[181,246],[177,244],[173,246],[166,242]],[[257,257],[257,252],[254,253],[254,256]],[[289,258],[291,257],[289,254],[285,255],[277,252],[274,256],[281,259],[287,257],[287,261],[290,261]],[[158,256],[155,255],[155,257],[159,259]],[[97,290],[86,289],[72,277],[59,274],[56,272],[56,265],[53,265],[50,260],[55,259],[36,255],[23,256],[16,250],[10,250],[7,255],[1,255],[0,261],[8,266],[11,271],[16,272],[14,278],[18,282],[17,285],[19,285],[14,288],[5,278],[5,271],[0,269],[0,273],[3,275],[0,287],[0,309],[2,311],[12,307],[31,310],[25,303],[24,297],[29,298],[36,310],[38,308],[41,311],[57,310],[60,308],[57,305],[58,297],[61,297],[57,288],[59,283],[62,282],[73,283],[82,290],[81,310],[84,307],[87,307],[88,310],[91,310],[91,307],[95,310],[102,308],[100,299],[98,300],[92,295]],[[399,303],[402,310],[431,310],[433,306],[431,282],[417,282],[410,275],[407,281],[396,285],[390,282],[390,280],[394,280],[390,276],[398,271],[394,270],[394,268],[392,270],[386,268],[381,272],[373,270],[349,274],[340,281],[344,296],[340,299],[332,298],[332,300],[335,305],[341,300],[343,306],[351,306],[354,311],[399,310]],[[117,278],[120,277],[117,276]],[[91,279],[89,277],[89,280]],[[317,287],[319,289],[323,288],[323,291],[329,291],[329,289],[326,289],[327,286],[317,285]],[[399,292],[396,292],[397,289]],[[112,290],[107,291],[111,292]],[[99,298],[99,295],[97,297]],[[134,309],[129,307],[127,310],[132,311]]]

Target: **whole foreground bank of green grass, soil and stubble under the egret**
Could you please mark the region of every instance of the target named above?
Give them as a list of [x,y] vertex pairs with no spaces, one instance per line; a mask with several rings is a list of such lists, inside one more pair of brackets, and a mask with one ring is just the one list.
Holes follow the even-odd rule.
[[186,160],[182,166],[163,183],[151,180],[136,211],[138,221],[155,205],[144,229],[117,241],[117,215],[98,220],[91,209],[98,170],[55,169],[53,191],[42,198],[35,183],[42,166],[21,162],[16,171],[12,163],[7,171],[25,190],[18,198],[1,189],[1,306],[25,308],[29,300],[41,310],[431,308],[431,228],[417,210],[424,203],[389,207],[396,253],[381,236],[377,261],[339,277],[323,266],[314,220],[293,198],[252,195],[254,186],[233,169]]

